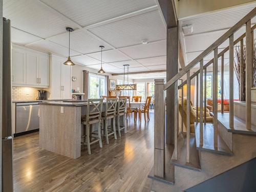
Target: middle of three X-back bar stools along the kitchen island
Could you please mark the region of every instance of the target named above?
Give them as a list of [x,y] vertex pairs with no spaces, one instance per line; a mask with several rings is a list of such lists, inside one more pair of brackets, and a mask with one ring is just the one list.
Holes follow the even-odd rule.
[[[114,134],[114,138],[116,137],[116,103],[117,98],[106,98],[106,110],[102,112],[101,118],[104,121],[104,127],[102,126],[102,130],[104,130],[104,135],[106,137],[106,144],[109,144],[109,136]],[[110,129],[108,129],[108,121],[111,119],[112,125]],[[103,124],[102,124],[103,125]]]

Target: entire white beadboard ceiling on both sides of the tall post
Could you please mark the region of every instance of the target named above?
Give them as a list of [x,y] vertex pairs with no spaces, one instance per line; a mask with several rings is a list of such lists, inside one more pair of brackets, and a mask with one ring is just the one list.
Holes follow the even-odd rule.
[[[251,3],[180,20],[180,27],[194,27],[192,34],[181,33],[185,62],[193,60],[255,6]],[[3,15],[11,20],[12,42],[19,45],[67,57],[66,27],[72,27],[71,56],[80,65],[99,69],[99,46],[103,45],[106,72],[122,73],[124,64],[130,64],[131,72],[166,69],[166,29],[156,0],[4,0]],[[235,38],[243,32],[244,28]],[[147,45],[141,45],[144,39]],[[225,46],[227,42],[220,48]],[[166,73],[130,77],[165,78]]]

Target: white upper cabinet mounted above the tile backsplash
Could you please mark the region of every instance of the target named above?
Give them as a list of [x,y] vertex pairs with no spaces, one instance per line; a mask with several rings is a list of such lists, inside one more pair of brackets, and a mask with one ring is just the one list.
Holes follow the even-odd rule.
[[13,86],[49,88],[49,73],[49,54],[13,45]]

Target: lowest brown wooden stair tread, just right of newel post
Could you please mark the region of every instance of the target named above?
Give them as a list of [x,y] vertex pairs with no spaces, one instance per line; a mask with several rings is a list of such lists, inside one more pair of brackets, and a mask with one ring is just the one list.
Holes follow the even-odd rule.
[[199,160],[199,153],[197,151],[196,146],[196,137],[195,134],[190,134],[190,163],[186,162],[186,133],[180,133],[178,137],[178,158],[177,160],[174,159],[174,156],[170,160],[172,164],[175,166],[188,168],[191,170],[196,170],[198,172],[201,171],[201,165]]

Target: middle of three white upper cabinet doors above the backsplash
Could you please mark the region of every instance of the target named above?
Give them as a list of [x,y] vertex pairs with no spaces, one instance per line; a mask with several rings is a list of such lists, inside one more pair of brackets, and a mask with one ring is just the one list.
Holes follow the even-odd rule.
[[37,64],[38,57],[33,54],[27,54],[27,75],[26,75],[26,84],[38,85],[38,70]]

